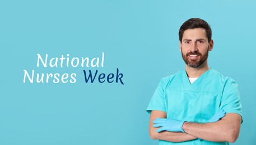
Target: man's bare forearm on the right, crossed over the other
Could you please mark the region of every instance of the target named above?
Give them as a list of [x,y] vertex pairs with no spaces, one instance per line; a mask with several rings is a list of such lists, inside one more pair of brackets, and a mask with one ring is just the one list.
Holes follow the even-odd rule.
[[228,113],[215,123],[189,123],[183,124],[183,130],[195,137],[213,142],[235,142],[239,136],[241,116]]

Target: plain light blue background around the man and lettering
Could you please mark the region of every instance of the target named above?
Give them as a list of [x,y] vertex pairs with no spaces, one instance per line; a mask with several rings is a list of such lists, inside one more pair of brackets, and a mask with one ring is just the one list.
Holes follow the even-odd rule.
[[[0,144],[157,144],[147,105],[160,79],[184,68],[178,30],[210,23],[209,65],[239,84],[244,123],[234,144],[255,144],[255,1],[1,1]],[[85,84],[82,67],[36,67],[37,55],[100,57],[124,85]],[[76,73],[75,84],[23,83]]]

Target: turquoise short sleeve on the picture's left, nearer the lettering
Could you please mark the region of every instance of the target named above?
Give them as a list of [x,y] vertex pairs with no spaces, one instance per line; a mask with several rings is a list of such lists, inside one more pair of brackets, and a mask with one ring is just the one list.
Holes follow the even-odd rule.
[[150,104],[148,104],[147,112],[149,114],[151,114],[151,110],[160,110],[166,112],[165,104],[165,83],[164,79],[161,79],[159,85],[153,93]]

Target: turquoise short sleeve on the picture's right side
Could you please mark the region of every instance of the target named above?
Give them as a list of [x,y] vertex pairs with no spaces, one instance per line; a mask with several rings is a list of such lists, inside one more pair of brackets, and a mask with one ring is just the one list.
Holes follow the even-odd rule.
[[242,117],[242,105],[240,101],[238,84],[236,84],[236,82],[230,78],[227,79],[224,86],[220,108],[224,109],[226,113],[236,113]]

